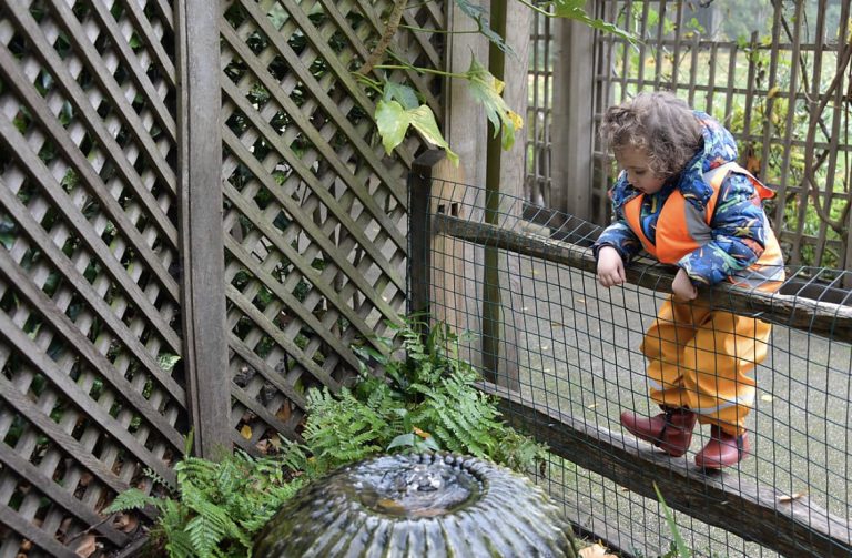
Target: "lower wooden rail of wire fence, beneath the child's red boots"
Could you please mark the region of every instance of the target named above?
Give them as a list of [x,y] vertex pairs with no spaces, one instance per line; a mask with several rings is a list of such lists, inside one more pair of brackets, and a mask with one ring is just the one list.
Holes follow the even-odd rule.
[[511,426],[631,491],[656,499],[656,484],[670,507],[784,556],[852,556],[849,523],[808,497],[779,501],[784,495],[739,475],[704,474],[686,457],[669,457],[648,443],[530,403],[516,392],[487,383],[479,387],[499,398]]

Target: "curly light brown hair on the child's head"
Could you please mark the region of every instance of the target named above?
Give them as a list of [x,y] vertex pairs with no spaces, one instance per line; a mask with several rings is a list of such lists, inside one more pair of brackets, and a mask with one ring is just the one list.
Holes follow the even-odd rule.
[[669,179],[683,170],[703,143],[692,110],[672,93],[643,92],[607,109],[600,135],[613,153],[641,149],[655,175]]

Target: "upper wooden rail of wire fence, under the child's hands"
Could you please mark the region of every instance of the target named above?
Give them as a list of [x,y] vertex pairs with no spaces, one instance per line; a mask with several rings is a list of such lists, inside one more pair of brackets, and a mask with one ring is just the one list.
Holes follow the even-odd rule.
[[[434,226],[436,232],[476,244],[510,250],[589,273],[597,272],[590,248],[446,215],[436,215]],[[660,264],[633,262],[626,270],[627,281],[646,288],[671,292],[671,282],[674,278],[671,270],[672,267]],[[698,291],[699,297],[693,304],[709,303],[718,310],[759,315],[764,322],[852,344],[852,306],[749,291],[727,283],[720,283],[712,288],[700,287]]]

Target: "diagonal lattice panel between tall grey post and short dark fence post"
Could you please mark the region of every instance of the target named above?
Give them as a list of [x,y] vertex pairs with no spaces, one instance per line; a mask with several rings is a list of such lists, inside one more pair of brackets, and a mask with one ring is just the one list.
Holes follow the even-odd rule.
[[297,436],[301,394],[336,388],[357,366],[349,345],[398,319],[413,156],[384,156],[353,74],[389,7],[241,0],[221,26],[231,417],[248,450],[282,423]]

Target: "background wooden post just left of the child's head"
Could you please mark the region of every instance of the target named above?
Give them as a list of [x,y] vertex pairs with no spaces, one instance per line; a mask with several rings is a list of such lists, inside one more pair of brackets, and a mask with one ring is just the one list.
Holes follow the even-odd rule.
[[594,42],[591,28],[559,19],[554,68],[550,206],[591,220]]

